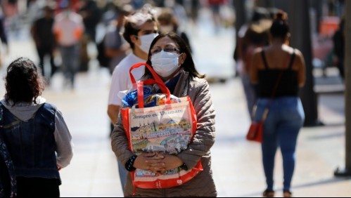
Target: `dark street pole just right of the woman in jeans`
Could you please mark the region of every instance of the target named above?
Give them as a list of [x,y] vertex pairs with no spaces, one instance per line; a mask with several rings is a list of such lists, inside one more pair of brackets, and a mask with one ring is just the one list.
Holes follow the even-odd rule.
[[300,90],[300,98],[305,111],[305,126],[318,126],[320,121],[317,112],[317,94],[314,92],[314,77],[312,74],[312,41],[309,26],[309,1],[290,1],[291,46],[298,48],[305,58],[306,83]]

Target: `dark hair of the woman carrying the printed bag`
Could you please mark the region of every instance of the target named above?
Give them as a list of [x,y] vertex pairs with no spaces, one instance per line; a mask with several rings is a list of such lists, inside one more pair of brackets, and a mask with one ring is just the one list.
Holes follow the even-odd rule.
[[[181,65],[181,67],[183,67],[184,71],[189,72],[189,74],[192,77],[198,77],[200,79],[205,78],[205,75],[199,74],[198,71],[196,70],[196,67],[195,67],[195,64],[193,62],[193,58],[191,56],[189,47],[186,45],[184,40],[181,39],[181,37],[179,37],[174,32],[161,33],[155,39],[153,39],[153,42],[151,43],[151,46],[150,46],[150,50],[148,51],[148,60],[146,62],[148,65],[150,65],[151,67],[153,66],[152,63],[151,63],[151,49],[153,48],[155,43],[158,40],[162,39],[163,37],[169,37],[170,39],[172,39],[179,46],[179,54],[181,54],[181,53],[185,53],[186,54],[186,59],[184,60],[183,65]],[[146,77],[146,76],[151,76],[151,72],[148,70],[148,68],[145,68],[144,77]]]

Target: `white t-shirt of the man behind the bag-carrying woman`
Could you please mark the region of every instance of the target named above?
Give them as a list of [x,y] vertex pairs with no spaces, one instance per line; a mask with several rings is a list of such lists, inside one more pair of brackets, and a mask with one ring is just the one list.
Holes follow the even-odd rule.
[[[133,65],[139,62],[146,62],[134,53],[130,53],[126,58],[115,67],[112,74],[110,93],[108,95],[108,105],[122,106],[122,99],[118,96],[120,91],[126,91],[132,89],[132,81],[129,77],[129,69]],[[145,67],[141,66],[132,71],[132,74],[136,81],[139,81],[143,77]]]

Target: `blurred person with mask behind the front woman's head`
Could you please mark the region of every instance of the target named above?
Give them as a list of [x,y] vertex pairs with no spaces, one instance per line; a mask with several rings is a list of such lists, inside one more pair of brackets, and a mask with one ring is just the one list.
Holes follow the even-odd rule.
[[183,39],[189,50],[192,52],[189,37],[186,32],[179,30],[179,22],[177,18],[173,15],[173,11],[170,8],[162,8],[160,14],[158,15],[158,24],[160,25],[160,32],[168,33],[174,32],[181,39]]

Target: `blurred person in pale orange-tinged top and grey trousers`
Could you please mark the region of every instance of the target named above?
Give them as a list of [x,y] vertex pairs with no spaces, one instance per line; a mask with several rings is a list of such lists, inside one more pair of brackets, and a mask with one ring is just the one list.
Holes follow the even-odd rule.
[[84,24],[82,16],[75,13],[71,6],[68,0],[60,2],[62,12],[55,16],[53,34],[60,48],[65,85],[70,85],[73,89],[75,74],[79,69],[79,40],[84,32]]

